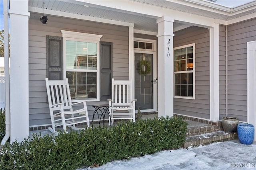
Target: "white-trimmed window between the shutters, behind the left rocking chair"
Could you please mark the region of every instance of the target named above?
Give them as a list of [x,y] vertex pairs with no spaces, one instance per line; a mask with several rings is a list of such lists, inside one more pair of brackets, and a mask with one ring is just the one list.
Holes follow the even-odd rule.
[[[64,77],[71,98],[99,100],[99,43],[102,35],[62,31],[64,37]],[[70,38],[74,37],[74,38]]]

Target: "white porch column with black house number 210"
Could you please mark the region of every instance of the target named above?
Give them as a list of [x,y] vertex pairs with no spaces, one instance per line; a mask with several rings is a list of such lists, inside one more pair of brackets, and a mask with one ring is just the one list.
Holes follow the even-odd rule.
[[158,23],[158,117],[173,116],[173,22],[163,16]]

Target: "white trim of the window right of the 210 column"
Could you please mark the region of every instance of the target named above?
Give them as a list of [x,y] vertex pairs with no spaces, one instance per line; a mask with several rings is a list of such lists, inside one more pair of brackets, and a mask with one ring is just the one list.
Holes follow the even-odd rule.
[[[176,49],[182,49],[182,48],[185,48],[185,47],[190,47],[190,46],[193,46],[193,70],[191,71],[178,71],[178,72],[174,72],[173,70],[173,97],[174,98],[180,98],[180,99],[192,99],[192,100],[195,100],[196,99],[196,43],[192,43],[192,44],[188,44],[188,45],[182,45],[182,46],[179,46],[179,47],[175,47],[173,48],[173,56],[174,56],[174,51]],[[174,69],[174,68],[173,68]],[[188,72],[193,72],[193,97],[186,97],[186,96],[175,96],[175,73],[188,73]]]

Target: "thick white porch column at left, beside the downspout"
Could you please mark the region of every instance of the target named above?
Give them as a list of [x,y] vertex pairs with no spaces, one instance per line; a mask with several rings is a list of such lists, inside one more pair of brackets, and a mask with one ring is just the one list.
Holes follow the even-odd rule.
[[[28,0],[10,0],[10,142],[28,137]],[[38,19],[39,20],[39,19]]]

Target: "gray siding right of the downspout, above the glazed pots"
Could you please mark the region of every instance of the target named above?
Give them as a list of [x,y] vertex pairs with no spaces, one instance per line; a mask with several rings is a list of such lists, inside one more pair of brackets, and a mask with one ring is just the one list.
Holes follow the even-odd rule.
[[247,42],[256,40],[256,18],[228,25],[228,116],[247,121]]

